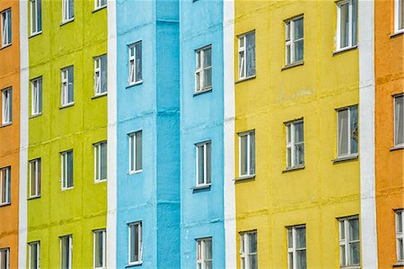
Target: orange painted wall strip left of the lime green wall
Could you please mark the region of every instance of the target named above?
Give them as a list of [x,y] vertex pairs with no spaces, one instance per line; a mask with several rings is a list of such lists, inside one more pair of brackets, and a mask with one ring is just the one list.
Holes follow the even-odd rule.
[[[17,268],[20,177],[20,14],[17,0],[0,1],[0,12],[10,7],[12,9],[12,45],[0,49],[0,90],[13,87],[13,124],[0,127],[0,168],[11,166],[12,183],[11,204],[0,207],[0,248],[10,247],[10,268]],[[0,94],[0,101],[1,98]]]

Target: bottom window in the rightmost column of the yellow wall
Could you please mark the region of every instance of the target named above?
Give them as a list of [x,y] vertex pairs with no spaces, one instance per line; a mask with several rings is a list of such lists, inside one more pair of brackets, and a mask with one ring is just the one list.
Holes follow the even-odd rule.
[[339,219],[339,265],[352,266],[361,264],[359,248],[359,219],[349,217]]

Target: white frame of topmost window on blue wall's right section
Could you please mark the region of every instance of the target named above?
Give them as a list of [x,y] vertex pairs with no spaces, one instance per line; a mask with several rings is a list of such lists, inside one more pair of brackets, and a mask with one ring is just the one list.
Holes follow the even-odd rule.
[[[205,52],[207,49],[210,49],[210,66],[205,66]],[[212,70],[212,45],[195,50],[195,93],[212,89],[213,85],[205,85],[205,72],[209,69]],[[210,73],[210,76],[210,81],[212,84],[212,72]]]

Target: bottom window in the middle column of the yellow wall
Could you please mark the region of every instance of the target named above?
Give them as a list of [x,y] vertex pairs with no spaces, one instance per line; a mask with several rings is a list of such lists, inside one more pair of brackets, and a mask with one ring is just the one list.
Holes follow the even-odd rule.
[[287,268],[307,268],[305,225],[287,228]]

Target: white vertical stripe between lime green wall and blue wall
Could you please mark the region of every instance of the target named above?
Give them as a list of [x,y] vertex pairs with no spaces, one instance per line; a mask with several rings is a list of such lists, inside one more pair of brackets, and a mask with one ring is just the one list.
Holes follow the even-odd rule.
[[117,10],[108,1],[107,268],[117,267]]

